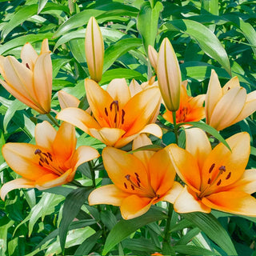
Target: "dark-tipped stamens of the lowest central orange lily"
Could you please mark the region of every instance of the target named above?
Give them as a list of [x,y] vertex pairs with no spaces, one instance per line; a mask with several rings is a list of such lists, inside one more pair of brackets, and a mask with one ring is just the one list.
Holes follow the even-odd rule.
[[126,174],[125,176],[127,182],[123,183],[123,186],[126,190],[130,190],[131,192],[138,192],[138,194],[143,194],[146,198],[159,198],[160,196],[156,194],[151,186],[146,188],[142,186],[142,180],[137,173],[134,175]]

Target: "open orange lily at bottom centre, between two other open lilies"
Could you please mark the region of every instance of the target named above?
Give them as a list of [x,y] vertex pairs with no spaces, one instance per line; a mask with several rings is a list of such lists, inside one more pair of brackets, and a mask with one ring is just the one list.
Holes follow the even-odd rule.
[[[134,139],[133,150],[149,145],[150,139],[141,134]],[[94,190],[90,205],[120,206],[122,218],[136,218],[159,202],[174,202],[182,186],[174,182],[175,170],[166,149],[158,152],[138,151],[134,154],[106,146],[102,159],[114,184]]]

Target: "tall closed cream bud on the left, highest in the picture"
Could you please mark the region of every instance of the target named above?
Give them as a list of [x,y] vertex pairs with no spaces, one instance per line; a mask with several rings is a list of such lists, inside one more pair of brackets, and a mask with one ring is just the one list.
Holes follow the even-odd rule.
[[104,42],[102,32],[94,17],[91,17],[86,28],[86,61],[90,78],[96,82],[102,79],[104,60]]

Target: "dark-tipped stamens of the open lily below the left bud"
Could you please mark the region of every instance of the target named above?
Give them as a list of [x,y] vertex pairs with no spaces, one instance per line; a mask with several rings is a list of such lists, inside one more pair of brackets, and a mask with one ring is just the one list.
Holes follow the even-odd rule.
[[124,124],[126,112],[119,108],[118,101],[111,102],[108,108],[105,107],[104,112],[111,128],[119,128]]

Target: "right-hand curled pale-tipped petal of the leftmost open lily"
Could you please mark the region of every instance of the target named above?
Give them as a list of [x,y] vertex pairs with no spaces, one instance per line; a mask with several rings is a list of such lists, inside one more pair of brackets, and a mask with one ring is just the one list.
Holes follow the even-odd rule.
[[98,158],[99,156],[100,155],[98,154],[98,151],[93,147],[79,146],[78,149],[74,152],[71,166],[74,166],[74,170],[76,170],[78,166],[80,166],[83,162],[88,162],[94,158]]

